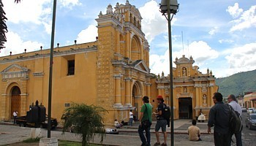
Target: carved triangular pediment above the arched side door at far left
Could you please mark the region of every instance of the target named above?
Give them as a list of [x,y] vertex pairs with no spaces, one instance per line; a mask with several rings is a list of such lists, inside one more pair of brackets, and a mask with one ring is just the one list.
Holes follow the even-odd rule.
[[29,79],[29,69],[26,67],[19,66],[18,64],[12,64],[6,69],[1,71],[2,79],[12,79],[12,78],[25,78]]

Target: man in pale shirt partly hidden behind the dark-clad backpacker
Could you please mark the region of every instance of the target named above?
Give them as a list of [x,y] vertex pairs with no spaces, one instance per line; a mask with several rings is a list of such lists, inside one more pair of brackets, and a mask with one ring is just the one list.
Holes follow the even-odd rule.
[[[233,110],[235,110],[236,112],[238,112],[240,114],[240,116],[242,116],[242,110],[241,110],[240,105],[236,102],[236,96],[234,96],[233,94],[230,94],[227,97],[227,101],[228,101],[228,104],[230,104],[230,106],[233,107]],[[242,133],[242,131],[235,133],[237,146],[242,146],[242,134],[241,133]]]

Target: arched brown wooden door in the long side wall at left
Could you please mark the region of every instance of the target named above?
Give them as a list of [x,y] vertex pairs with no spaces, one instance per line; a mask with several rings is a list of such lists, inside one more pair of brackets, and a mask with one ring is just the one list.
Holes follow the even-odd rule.
[[20,114],[20,88],[18,86],[14,86],[11,90],[11,118],[13,118],[12,113],[14,111]]

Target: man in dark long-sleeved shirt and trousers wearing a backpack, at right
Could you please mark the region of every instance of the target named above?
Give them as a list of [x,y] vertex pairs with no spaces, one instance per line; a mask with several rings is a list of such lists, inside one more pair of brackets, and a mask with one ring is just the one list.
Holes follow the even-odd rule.
[[231,145],[230,134],[230,110],[226,104],[223,103],[221,93],[214,93],[214,106],[211,107],[208,119],[208,134],[211,133],[211,127],[214,126],[214,144]]

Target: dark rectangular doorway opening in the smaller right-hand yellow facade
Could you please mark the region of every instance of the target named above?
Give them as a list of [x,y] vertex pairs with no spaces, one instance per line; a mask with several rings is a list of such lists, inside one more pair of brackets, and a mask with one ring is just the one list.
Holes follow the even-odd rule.
[[178,99],[178,116],[180,119],[192,119],[192,99],[190,97]]

